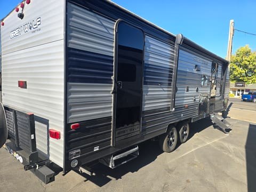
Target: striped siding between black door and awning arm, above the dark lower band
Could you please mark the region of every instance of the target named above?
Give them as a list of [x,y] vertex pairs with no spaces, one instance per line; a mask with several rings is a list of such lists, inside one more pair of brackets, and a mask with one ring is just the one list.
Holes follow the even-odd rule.
[[145,37],[142,110],[171,106],[174,45]]

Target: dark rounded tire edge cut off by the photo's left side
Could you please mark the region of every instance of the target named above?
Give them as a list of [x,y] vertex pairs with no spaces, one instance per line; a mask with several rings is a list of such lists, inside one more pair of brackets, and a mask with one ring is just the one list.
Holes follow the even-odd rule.
[[2,103],[0,102],[0,148],[4,145],[7,139],[7,122],[5,111]]

